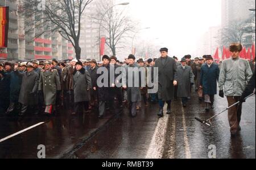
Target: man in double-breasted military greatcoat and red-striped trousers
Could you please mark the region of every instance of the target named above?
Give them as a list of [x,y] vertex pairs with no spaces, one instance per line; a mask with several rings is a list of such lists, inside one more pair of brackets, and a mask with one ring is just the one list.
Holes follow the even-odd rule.
[[55,111],[57,91],[60,92],[60,77],[56,69],[51,68],[51,62],[44,63],[44,70],[41,71],[39,91],[43,90],[46,110],[44,113],[52,114]]

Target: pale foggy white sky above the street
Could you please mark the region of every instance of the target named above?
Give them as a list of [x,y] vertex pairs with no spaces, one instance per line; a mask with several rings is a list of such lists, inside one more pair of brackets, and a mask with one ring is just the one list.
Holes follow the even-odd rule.
[[[139,39],[156,39],[179,58],[195,53],[196,44],[209,27],[221,24],[221,0],[115,0],[129,2],[127,8],[142,30]],[[158,50],[158,49],[156,49]],[[129,52],[127,52],[129,53]]]

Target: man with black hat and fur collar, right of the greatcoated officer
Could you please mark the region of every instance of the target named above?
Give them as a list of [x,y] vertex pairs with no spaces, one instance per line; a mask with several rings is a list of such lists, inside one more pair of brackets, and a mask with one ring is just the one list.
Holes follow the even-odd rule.
[[73,82],[75,111],[72,114],[77,114],[83,108],[86,111],[89,109],[90,89],[92,89],[90,73],[85,70],[81,61],[76,63],[76,71],[73,72]]

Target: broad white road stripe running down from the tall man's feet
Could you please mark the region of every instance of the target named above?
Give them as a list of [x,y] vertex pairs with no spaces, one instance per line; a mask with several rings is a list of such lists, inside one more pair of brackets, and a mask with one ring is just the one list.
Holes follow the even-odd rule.
[[[167,105],[164,107],[166,112]],[[167,123],[170,115],[164,114],[163,118],[160,118],[158,125],[155,128],[154,135],[148,147],[146,159],[160,159],[163,156],[164,143],[166,142]]]

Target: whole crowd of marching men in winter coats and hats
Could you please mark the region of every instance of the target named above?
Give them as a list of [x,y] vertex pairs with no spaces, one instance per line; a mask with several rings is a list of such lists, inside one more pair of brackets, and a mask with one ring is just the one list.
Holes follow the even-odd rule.
[[[241,44],[230,45],[232,57],[220,63],[214,62],[212,56],[205,55],[191,59],[184,56],[180,61],[177,57],[169,57],[168,49],[160,49],[157,59],[136,59],[134,55],[120,62],[117,57],[102,57],[101,62],[86,59],[72,61],[31,61],[0,63],[0,114],[19,116],[27,113],[43,113],[53,115],[58,107],[71,108],[76,115],[92,110],[98,111],[102,118],[106,110],[114,112],[115,108],[129,106],[131,117],[136,117],[137,111],[148,106],[148,102],[159,103],[159,117],[164,116],[164,103],[167,103],[167,113],[171,114],[171,102],[181,98],[183,107],[191,98],[192,87],[198,94],[199,100],[205,102],[205,111],[214,109],[214,95],[228,99],[229,106],[242,101],[255,88],[255,59],[241,59],[239,54]],[[104,67],[110,71],[110,66],[128,71],[129,68],[158,68],[158,92],[148,94],[147,86],[128,86],[129,79],[122,78],[122,86],[115,82],[109,86],[98,86],[98,77],[103,73],[97,70]],[[120,74],[114,74],[116,79]],[[135,77],[132,74],[134,81]],[[254,77],[254,78],[251,78]],[[254,81],[253,81],[254,79]],[[225,91],[224,91],[225,90]],[[246,91],[246,92],[245,92]],[[236,135],[241,121],[241,105],[229,109],[228,117],[230,132]]]

